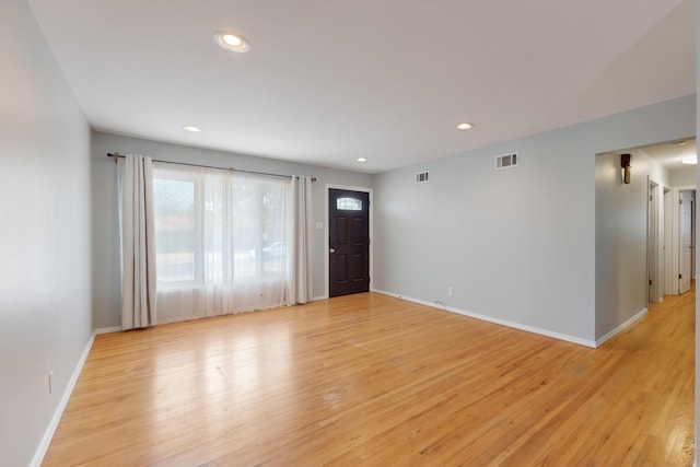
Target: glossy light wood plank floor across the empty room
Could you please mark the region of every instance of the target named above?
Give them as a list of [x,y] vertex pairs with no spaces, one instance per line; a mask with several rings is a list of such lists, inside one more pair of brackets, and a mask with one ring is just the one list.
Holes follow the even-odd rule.
[[44,465],[689,466],[693,301],[597,350],[377,294],[98,336]]

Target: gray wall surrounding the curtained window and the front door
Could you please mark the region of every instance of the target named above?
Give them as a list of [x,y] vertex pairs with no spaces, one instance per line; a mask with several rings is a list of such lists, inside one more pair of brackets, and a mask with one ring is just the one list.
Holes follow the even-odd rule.
[[[235,167],[244,171],[282,175],[312,175],[313,185],[312,264],[314,296],[325,294],[325,185],[347,185],[372,188],[372,176],[271,159],[253,157],[207,149],[128,138],[103,132],[92,135],[92,199],[93,199],[93,313],[96,329],[120,325],[119,232],[117,223],[117,188],[114,162],[107,152],[143,154],[153,159]],[[324,224],[325,226],[325,224]]]

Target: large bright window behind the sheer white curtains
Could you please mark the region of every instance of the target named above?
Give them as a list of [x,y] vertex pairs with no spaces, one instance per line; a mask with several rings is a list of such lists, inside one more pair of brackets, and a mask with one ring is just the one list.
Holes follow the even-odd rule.
[[288,271],[288,179],[154,168],[159,285],[265,279]]

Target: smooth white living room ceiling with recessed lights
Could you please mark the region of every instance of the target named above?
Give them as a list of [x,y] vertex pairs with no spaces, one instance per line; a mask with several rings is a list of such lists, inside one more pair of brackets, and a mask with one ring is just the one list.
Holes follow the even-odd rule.
[[370,173],[696,92],[693,0],[28,2],[94,129]]

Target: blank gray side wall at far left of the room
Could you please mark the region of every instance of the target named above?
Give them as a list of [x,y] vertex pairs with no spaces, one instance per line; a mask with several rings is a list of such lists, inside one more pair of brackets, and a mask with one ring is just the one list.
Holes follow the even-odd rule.
[[92,334],[90,129],[24,0],[0,63],[0,464],[25,466]]

